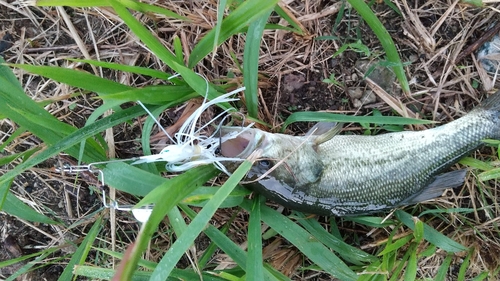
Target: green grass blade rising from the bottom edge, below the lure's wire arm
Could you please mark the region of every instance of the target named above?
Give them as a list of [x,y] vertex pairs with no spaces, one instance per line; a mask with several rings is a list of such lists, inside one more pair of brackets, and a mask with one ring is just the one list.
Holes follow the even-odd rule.
[[95,221],[92,228],[89,230],[87,235],[85,235],[85,239],[83,239],[78,249],[75,251],[75,253],[73,253],[71,260],[69,261],[68,265],[66,265],[63,273],[61,274],[61,276],[59,276],[59,279],[57,280],[66,281],[72,279],[73,268],[75,267],[75,265],[77,264],[82,265],[85,262],[85,259],[89,254],[90,248],[92,247],[92,244],[94,243],[97,234],[99,234],[99,230],[101,229],[101,227],[102,227],[102,217],[98,218]]

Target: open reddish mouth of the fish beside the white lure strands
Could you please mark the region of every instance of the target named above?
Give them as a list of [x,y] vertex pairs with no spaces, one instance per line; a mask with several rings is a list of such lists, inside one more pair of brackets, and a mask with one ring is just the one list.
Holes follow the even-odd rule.
[[259,135],[255,129],[221,127],[220,153],[224,157],[247,158],[259,146]]

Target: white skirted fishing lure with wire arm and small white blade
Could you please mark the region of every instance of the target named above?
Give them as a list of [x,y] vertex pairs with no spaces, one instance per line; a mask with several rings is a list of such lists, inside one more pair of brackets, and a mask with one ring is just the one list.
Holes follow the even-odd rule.
[[[175,76],[173,76],[175,77]],[[78,172],[91,172],[95,174],[98,178],[100,177],[101,183],[101,191],[102,191],[102,200],[105,208],[115,209],[119,211],[131,211],[134,217],[144,223],[149,219],[151,215],[153,205],[146,205],[140,208],[135,208],[133,205],[118,205],[117,202],[108,200],[106,196],[106,192],[104,190],[104,173],[97,169],[97,165],[108,164],[112,162],[124,162],[124,161],[134,161],[131,164],[137,165],[141,163],[152,163],[158,161],[167,162],[166,169],[171,172],[182,172],[189,170],[193,167],[207,164],[214,164],[220,171],[226,173],[227,175],[231,175],[231,173],[226,169],[226,167],[221,163],[221,161],[236,161],[241,162],[244,159],[241,158],[233,158],[233,157],[224,157],[220,156],[218,153],[219,147],[221,143],[224,143],[228,140],[237,138],[240,134],[249,130],[253,123],[240,128],[241,130],[234,133],[220,135],[220,129],[225,119],[229,116],[229,112],[234,110],[234,108],[229,108],[224,110],[222,113],[218,114],[216,117],[211,119],[206,124],[197,128],[197,124],[199,123],[199,118],[202,113],[210,106],[225,102],[237,101],[238,98],[233,97],[236,93],[239,93],[245,90],[244,87],[238,88],[232,92],[221,95],[215,99],[207,101],[208,95],[208,81],[205,79],[207,83],[206,92],[204,96],[204,100],[202,105],[194,111],[194,113],[187,118],[186,122],[183,123],[179,131],[174,134],[174,138],[172,138],[165,129],[161,126],[160,122],[154,117],[154,115],[147,109],[142,102],[137,101],[139,105],[141,105],[144,110],[148,113],[148,115],[153,118],[154,122],[158,124],[159,128],[163,130],[165,135],[171,140],[173,144],[167,145],[163,148],[160,153],[153,155],[146,155],[141,157],[135,157],[131,159],[120,159],[120,160],[111,160],[104,161],[98,163],[91,163],[88,165],[80,165],[80,166],[65,166],[62,168],[56,168],[57,172],[66,172],[75,174]],[[217,120],[221,119],[217,129],[212,135],[205,135],[203,131],[210,125],[212,125]],[[108,203],[109,201],[109,203]]]

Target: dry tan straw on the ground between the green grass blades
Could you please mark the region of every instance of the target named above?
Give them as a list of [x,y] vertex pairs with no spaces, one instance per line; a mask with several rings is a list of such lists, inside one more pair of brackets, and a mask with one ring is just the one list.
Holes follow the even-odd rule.
[[[7,62],[82,68],[95,75],[137,87],[158,81],[98,67],[89,68],[87,65],[65,59],[92,58],[168,71],[109,9],[18,8],[15,2],[8,2],[0,1],[0,37],[6,31],[14,37],[13,46],[4,53]],[[478,101],[485,97],[485,92],[498,88],[493,76],[487,75],[478,67],[475,59],[475,49],[478,46],[475,43],[486,39],[484,34],[492,27],[492,23],[496,23],[495,28],[499,26],[497,21],[500,19],[500,7],[492,4],[489,8],[475,8],[459,1],[397,0],[395,4],[403,12],[403,16],[397,16],[382,3],[376,4],[375,10],[394,38],[403,61],[412,62],[405,68],[411,81],[411,95],[391,95],[376,89],[379,99],[374,104],[353,108],[352,103],[346,103],[348,88],[365,89],[372,86],[360,79],[361,75],[355,69],[356,61],[360,59],[358,53],[348,50],[334,59],[332,54],[344,43],[361,39],[373,54],[369,59],[380,59],[381,56],[377,56],[381,54],[382,49],[378,40],[351,10],[345,10],[344,17],[336,23],[340,3],[282,1],[280,6],[303,27],[306,34],[299,36],[284,30],[265,31],[260,54],[260,118],[272,127],[279,128],[284,116],[290,113],[293,106],[299,106],[299,109],[302,107],[308,110],[342,113],[365,113],[371,108],[378,108],[384,114],[391,114],[392,110],[402,114],[414,114],[411,109],[417,108],[418,116],[449,122],[463,116],[477,105]],[[207,30],[216,24],[217,6],[214,1],[161,1],[159,5],[189,18],[192,23],[156,15],[137,14],[137,17],[170,49],[172,38],[179,37],[185,57],[189,56],[192,46]],[[271,22],[286,24],[278,16],[273,16]],[[362,34],[361,38],[357,37],[358,32]],[[339,40],[315,40],[319,36],[330,35],[337,36]],[[241,77],[239,65],[242,62],[244,40],[244,36],[229,39],[210,59],[199,63],[195,68],[196,72],[207,77],[209,81],[238,79],[232,78],[231,73],[236,74],[234,77]],[[100,101],[91,98],[92,96],[78,95],[78,89],[17,69],[15,71],[28,95],[36,101],[52,101],[47,103],[46,110],[76,127],[83,126],[93,108],[100,104]],[[344,87],[322,84],[321,80],[332,73],[335,73],[335,77]],[[298,90],[292,89],[292,92],[285,89],[287,85],[284,83],[290,74],[303,78]],[[480,85],[479,88],[476,82]],[[169,110],[163,114],[162,122],[166,126],[172,125],[182,112],[183,109]],[[1,140],[4,141],[13,132],[15,124],[7,119],[0,122]],[[139,120],[107,131],[105,136],[110,146],[109,155],[119,158],[140,155],[138,139],[141,125]],[[302,129],[298,126],[293,128],[295,133],[300,133]],[[355,125],[348,129],[360,130]],[[32,135],[23,134],[5,148],[3,155],[25,150],[38,143],[39,140]],[[494,155],[493,149],[484,149],[474,157],[486,160]],[[93,212],[100,208],[98,197],[88,189],[89,185],[96,183],[95,176],[85,175],[84,180],[79,181],[72,175],[52,173],[50,168],[57,161],[71,160],[61,156],[60,159],[24,173],[16,179],[11,190],[33,208],[50,208],[54,216],[63,219],[68,225],[75,224],[71,227],[34,225],[1,214],[0,227],[3,238],[16,237],[16,243],[22,246],[24,253],[28,253],[30,247],[66,245],[68,241],[82,237],[88,230],[88,225],[93,222]],[[3,166],[2,173],[10,168]],[[432,223],[433,227],[453,237],[455,241],[473,248],[469,257],[470,266],[466,272],[468,279],[483,271],[498,272],[500,267],[499,192],[496,182],[478,182],[473,172],[462,190],[449,191],[445,197],[419,207],[432,209],[434,205],[438,205],[443,209],[475,209],[470,214],[428,216],[428,222]],[[122,193],[117,193],[116,200],[123,204],[134,204],[137,201],[136,198]],[[214,225],[221,226],[230,220],[233,211],[221,210],[214,217]],[[110,217],[110,223],[99,240],[99,247],[123,252],[135,239],[137,223],[128,214],[111,213]],[[244,214],[237,215],[229,229],[229,237],[242,245],[246,239],[246,234],[242,233],[242,230],[246,229],[246,219]],[[365,226],[349,224],[341,219],[335,220],[345,226],[341,227],[341,231],[344,231],[346,236],[351,237],[348,233],[355,232],[363,237],[359,241],[360,247],[371,249],[369,251],[373,253],[377,251],[377,245],[380,245],[377,242],[387,239],[389,235],[384,229],[370,231],[371,229]],[[369,236],[365,236],[367,232],[370,232]],[[167,223],[162,225],[158,233],[151,241],[146,259],[158,261],[173,241],[173,232]],[[202,253],[207,246],[204,243],[206,244],[206,241],[200,238],[197,249],[193,249],[191,254]],[[301,272],[299,268],[303,261],[300,253],[280,239],[269,242],[264,253],[265,258],[275,265],[275,268],[292,278],[328,279],[321,275],[316,276],[313,271]],[[456,278],[458,268],[466,256],[467,253],[453,257],[452,270],[447,275],[449,280]],[[446,253],[438,250],[435,254],[421,259],[419,275],[435,276],[445,258]],[[95,262],[99,259],[99,254],[96,253]],[[221,268],[232,265],[224,255],[217,254],[213,259],[220,263]],[[64,264],[64,261],[48,265],[49,270],[43,270],[48,272],[47,280],[54,280],[53,277],[62,270],[63,266],[59,263]],[[187,266],[190,262],[186,259],[183,263]]]

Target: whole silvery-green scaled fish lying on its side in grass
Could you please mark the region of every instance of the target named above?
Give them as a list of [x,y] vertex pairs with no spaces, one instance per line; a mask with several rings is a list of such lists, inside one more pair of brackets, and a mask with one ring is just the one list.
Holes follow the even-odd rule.
[[[246,129],[220,144],[225,157],[261,157],[245,186],[289,209],[327,216],[383,212],[439,197],[463,185],[462,157],[500,139],[500,91],[468,114],[421,131],[375,136],[341,135],[339,125],[318,123],[305,136]],[[222,127],[235,134],[239,127]]]

